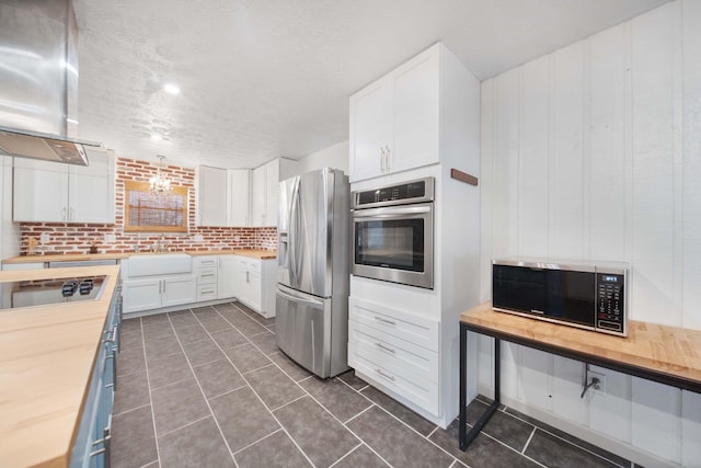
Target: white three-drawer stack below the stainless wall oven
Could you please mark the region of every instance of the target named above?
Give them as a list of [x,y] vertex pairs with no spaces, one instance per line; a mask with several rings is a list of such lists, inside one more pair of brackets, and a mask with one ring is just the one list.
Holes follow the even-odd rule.
[[348,365],[400,398],[438,414],[437,320],[349,299]]

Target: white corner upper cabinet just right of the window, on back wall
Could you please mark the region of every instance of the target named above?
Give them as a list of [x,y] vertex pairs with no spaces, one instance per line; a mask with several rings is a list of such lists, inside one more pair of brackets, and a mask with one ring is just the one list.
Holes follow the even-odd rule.
[[197,226],[249,226],[249,169],[197,168]]

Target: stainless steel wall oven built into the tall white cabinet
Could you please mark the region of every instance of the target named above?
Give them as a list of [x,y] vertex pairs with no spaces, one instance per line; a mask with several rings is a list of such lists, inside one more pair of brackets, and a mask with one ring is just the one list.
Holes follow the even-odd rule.
[[434,178],[353,192],[353,274],[434,287]]

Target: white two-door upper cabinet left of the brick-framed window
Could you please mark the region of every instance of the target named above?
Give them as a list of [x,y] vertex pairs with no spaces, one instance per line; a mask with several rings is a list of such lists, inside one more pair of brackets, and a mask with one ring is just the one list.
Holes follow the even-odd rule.
[[89,165],[14,159],[14,221],[114,224],[114,155],[88,153]]

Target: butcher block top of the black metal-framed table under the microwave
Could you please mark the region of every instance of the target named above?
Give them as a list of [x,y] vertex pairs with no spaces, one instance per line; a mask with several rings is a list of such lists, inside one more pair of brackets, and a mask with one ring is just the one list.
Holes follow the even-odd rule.
[[460,321],[478,329],[496,331],[505,340],[515,336],[536,344],[542,343],[548,347],[574,351],[601,361],[673,376],[701,387],[699,330],[630,320],[629,335],[622,338],[494,311],[491,303],[462,312]]

